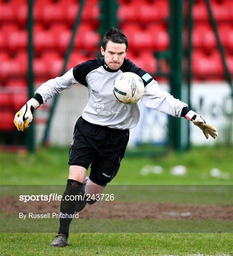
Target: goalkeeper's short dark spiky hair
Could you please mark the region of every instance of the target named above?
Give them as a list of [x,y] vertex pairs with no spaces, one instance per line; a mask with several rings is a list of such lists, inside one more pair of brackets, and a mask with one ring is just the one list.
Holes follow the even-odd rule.
[[104,35],[103,41],[102,41],[102,47],[104,48],[104,51],[106,50],[106,45],[108,41],[112,41],[113,43],[117,44],[125,44],[126,50],[128,49],[128,39],[126,35],[124,35],[120,29],[111,27]]

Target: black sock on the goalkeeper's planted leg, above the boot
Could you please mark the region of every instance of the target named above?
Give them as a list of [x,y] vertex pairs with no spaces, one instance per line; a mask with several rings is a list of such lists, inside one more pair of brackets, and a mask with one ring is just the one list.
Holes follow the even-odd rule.
[[[66,217],[61,218],[62,214],[74,214],[75,212],[75,206],[76,206],[76,200],[70,200],[69,197],[75,197],[79,194],[80,189],[82,187],[83,183],[80,183],[75,180],[69,179],[67,181],[66,190],[63,193],[61,202],[60,202],[60,228],[58,233],[66,234],[68,236],[69,234],[69,224],[72,220],[72,218]],[[67,198],[65,198],[67,196]],[[69,197],[68,197],[69,196]]]

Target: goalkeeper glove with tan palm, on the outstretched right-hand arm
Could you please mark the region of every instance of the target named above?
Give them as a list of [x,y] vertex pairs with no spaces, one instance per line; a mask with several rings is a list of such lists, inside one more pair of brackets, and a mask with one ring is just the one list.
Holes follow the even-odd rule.
[[216,138],[218,136],[217,129],[215,127],[213,127],[212,125],[207,124],[206,121],[200,115],[198,115],[196,112],[190,110],[185,115],[185,118],[191,120],[193,122],[193,124],[198,126],[202,130],[202,132],[204,133],[206,138],[208,138],[209,135],[213,138]]

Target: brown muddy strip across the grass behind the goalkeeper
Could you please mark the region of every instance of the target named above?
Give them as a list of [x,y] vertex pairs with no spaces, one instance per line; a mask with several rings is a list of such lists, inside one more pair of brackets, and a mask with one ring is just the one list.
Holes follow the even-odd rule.
[[[48,213],[60,211],[60,201],[22,202],[0,197],[1,212]],[[93,219],[233,219],[233,205],[198,205],[157,202],[99,201],[86,205],[80,218]]]

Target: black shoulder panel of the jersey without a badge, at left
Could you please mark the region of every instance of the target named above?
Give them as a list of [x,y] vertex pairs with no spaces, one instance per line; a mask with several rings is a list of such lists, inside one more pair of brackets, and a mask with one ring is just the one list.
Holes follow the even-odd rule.
[[88,60],[84,63],[78,64],[73,68],[73,75],[77,82],[83,84],[87,87],[86,76],[92,70],[100,67],[102,64],[101,58],[96,58],[94,60]]

